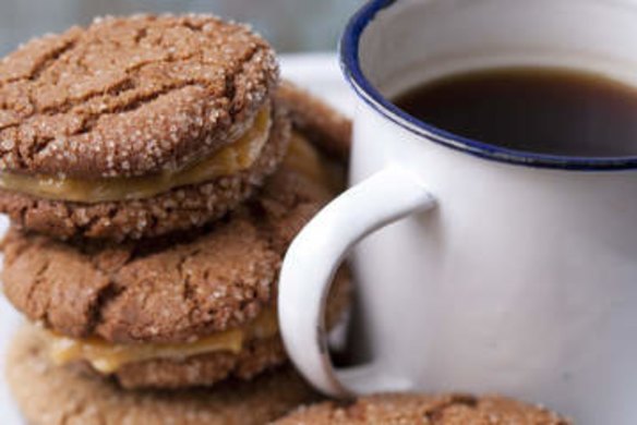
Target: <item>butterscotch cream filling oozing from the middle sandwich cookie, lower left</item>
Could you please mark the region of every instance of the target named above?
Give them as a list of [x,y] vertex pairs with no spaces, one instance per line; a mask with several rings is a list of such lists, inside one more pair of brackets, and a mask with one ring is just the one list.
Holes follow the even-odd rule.
[[113,344],[107,341],[88,338],[73,339],[53,332],[48,332],[50,340],[50,357],[57,365],[77,361],[88,362],[103,374],[112,374],[129,363],[148,360],[183,360],[197,354],[215,352],[239,353],[247,341],[268,339],[278,333],[276,311],[262,312],[253,321],[243,328],[229,329],[212,336],[184,343],[142,343]]

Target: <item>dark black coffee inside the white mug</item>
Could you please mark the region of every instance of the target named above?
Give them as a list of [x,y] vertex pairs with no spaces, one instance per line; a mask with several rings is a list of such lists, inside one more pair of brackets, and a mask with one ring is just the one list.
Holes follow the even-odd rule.
[[398,96],[428,124],[531,153],[637,155],[637,88],[584,71],[502,68],[459,73]]

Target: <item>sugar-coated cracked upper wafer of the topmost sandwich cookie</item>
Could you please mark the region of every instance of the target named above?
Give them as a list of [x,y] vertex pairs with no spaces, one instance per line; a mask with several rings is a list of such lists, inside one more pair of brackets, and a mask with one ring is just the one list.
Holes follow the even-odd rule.
[[0,62],[0,170],[99,179],[231,143],[278,81],[273,49],[209,15],[96,20]]

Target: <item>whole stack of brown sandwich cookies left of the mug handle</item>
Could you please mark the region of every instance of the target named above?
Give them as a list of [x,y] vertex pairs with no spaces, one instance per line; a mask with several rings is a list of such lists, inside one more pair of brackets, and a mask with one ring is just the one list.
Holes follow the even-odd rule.
[[279,367],[276,282],[340,187],[349,123],[278,80],[260,36],[199,15],[98,20],[0,62],[29,423],[264,423],[314,399]]

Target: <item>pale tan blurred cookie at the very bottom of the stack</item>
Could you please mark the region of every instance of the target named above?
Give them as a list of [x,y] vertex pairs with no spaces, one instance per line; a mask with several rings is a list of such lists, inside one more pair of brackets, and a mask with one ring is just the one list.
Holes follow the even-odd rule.
[[33,425],[261,425],[317,399],[286,368],[213,390],[125,391],[101,378],[50,365],[41,336],[32,327],[15,338],[7,376]]

